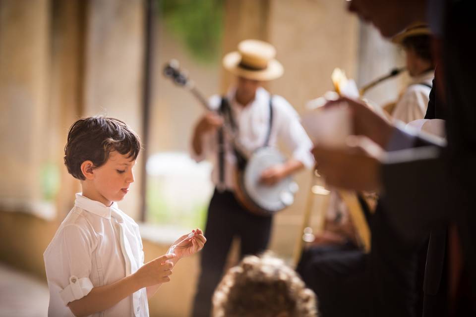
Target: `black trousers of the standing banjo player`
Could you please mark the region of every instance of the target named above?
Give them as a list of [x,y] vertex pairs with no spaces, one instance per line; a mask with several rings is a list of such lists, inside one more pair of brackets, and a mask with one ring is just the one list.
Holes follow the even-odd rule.
[[240,257],[258,254],[268,247],[272,217],[246,211],[230,191],[215,190],[208,207],[201,252],[200,276],[193,303],[193,317],[209,317],[213,292],[223,275],[233,238],[240,239]]

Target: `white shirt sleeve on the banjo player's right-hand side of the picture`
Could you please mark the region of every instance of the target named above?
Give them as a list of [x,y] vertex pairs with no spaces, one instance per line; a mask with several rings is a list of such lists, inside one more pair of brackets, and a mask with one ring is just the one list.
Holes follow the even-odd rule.
[[314,158],[312,157],[312,142],[307,136],[306,131],[302,127],[299,115],[283,97],[275,96],[274,105],[277,106],[280,115],[278,136],[283,140],[286,146],[291,150],[292,157],[304,164],[308,169],[314,166]]

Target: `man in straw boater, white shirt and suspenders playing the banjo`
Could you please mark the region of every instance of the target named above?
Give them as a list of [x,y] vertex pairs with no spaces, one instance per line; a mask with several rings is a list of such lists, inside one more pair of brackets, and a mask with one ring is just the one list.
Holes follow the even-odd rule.
[[[235,171],[241,167],[241,160],[231,142],[232,136],[221,128],[223,117],[227,118],[225,123],[234,122],[233,134],[247,152],[275,147],[280,142],[292,153],[286,162],[273,165],[259,175],[262,184],[273,186],[314,163],[309,152],[312,143],[293,106],[261,87],[262,82],[283,75],[283,66],[274,58],[275,54],[275,48],[266,42],[245,40],[239,43],[237,52],[225,55],[223,66],[236,76],[236,82],[225,96],[212,96],[209,104],[226,116],[207,113],[198,120],[193,132],[191,155],[197,161],[212,160],[212,180],[216,185],[208,208],[205,229],[208,242],[201,258],[193,316],[210,315],[212,294],[222,276],[232,240],[240,239],[241,257],[257,254],[268,247],[272,227],[272,216],[253,214],[236,198]],[[219,151],[221,137],[224,151]]]

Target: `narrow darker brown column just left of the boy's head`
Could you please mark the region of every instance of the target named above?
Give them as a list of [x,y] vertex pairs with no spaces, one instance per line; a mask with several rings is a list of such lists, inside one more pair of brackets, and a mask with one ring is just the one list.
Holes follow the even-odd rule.
[[49,139],[54,142],[52,155],[60,166],[60,188],[57,197],[58,218],[68,213],[74,204],[74,194],[80,191],[76,181],[64,166],[64,145],[71,124],[83,114],[83,67],[86,1],[53,0],[51,98]]

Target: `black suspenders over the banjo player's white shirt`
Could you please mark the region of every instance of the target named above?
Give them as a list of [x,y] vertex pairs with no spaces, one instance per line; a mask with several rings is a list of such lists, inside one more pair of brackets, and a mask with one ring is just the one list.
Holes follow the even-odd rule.
[[[223,116],[224,121],[228,122],[231,128],[236,131],[237,123],[233,117],[232,109],[230,103],[226,97],[222,97],[222,102],[218,112]],[[273,96],[269,97],[269,122],[268,122],[268,131],[266,133],[266,138],[263,144],[263,147],[269,146],[269,139],[271,137],[271,128],[273,126]],[[219,171],[219,184],[217,186],[219,191],[225,190],[225,136],[223,133],[223,128],[220,127],[217,130],[218,137],[218,171]],[[246,166],[246,158],[242,155],[238,149],[233,147],[235,157],[237,158],[237,167],[244,169]]]

